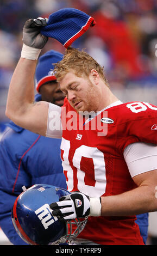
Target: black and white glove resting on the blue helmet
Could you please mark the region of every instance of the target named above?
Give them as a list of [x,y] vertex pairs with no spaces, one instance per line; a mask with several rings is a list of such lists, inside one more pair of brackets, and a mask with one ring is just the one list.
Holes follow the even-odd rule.
[[72,192],[49,206],[53,210],[52,214],[58,217],[59,221],[85,218],[90,215],[90,197],[80,192]]

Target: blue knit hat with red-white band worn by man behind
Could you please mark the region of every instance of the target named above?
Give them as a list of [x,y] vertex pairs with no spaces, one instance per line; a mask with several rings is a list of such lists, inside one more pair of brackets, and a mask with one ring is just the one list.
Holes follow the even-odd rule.
[[55,81],[56,77],[53,75],[54,64],[60,62],[63,54],[56,51],[48,51],[39,57],[35,70],[36,90],[39,93],[39,88],[47,82]]

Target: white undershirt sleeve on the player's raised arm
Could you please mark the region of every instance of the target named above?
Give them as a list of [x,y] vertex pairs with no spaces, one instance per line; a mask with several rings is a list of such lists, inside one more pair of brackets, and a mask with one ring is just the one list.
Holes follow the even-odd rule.
[[52,103],[49,103],[48,108],[46,137],[62,137],[61,107]]

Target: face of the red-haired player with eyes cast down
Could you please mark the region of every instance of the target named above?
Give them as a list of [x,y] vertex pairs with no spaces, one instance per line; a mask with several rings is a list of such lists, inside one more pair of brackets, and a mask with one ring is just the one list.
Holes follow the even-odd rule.
[[60,81],[60,88],[77,112],[99,110],[99,90],[90,77],[78,77],[68,72]]

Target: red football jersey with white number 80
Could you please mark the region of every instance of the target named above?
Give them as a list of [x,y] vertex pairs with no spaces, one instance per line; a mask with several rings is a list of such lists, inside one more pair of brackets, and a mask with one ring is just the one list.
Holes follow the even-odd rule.
[[[67,99],[62,109],[61,159],[67,190],[101,197],[135,188],[123,151],[134,142],[157,144],[157,107],[122,103],[86,124]],[[102,245],[143,245],[135,220],[136,216],[89,217],[78,237]]]

